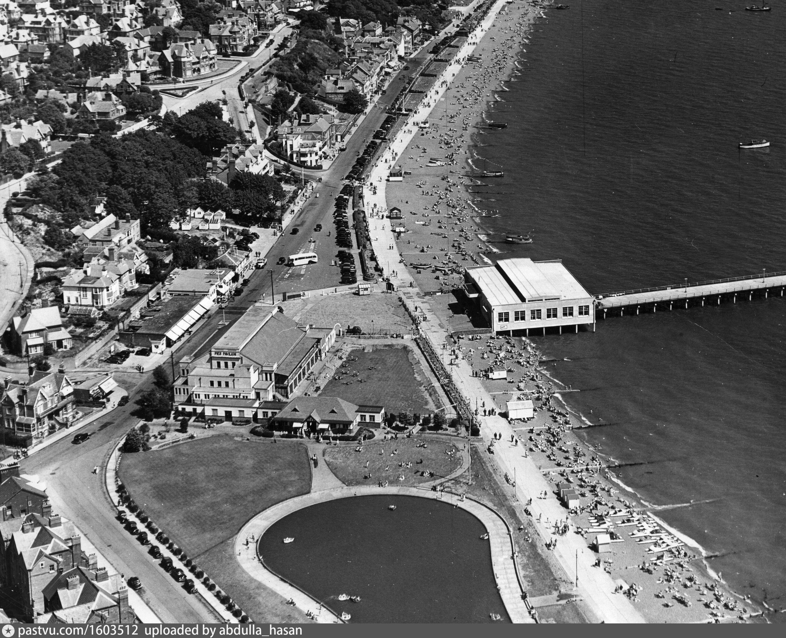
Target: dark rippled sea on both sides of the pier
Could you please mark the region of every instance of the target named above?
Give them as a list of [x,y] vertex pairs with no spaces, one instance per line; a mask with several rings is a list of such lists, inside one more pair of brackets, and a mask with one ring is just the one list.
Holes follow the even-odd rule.
[[[487,120],[508,127],[474,138],[476,168],[505,171],[475,196],[495,256],[561,259],[593,294],[786,271],[786,3],[772,6],[546,9],[489,98]],[[751,138],[771,146],[738,148]],[[594,426],[578,435],[623,464],[618,480],[780,610],[786,301],[709,301],[533,340],[580,390],[564,393]]]

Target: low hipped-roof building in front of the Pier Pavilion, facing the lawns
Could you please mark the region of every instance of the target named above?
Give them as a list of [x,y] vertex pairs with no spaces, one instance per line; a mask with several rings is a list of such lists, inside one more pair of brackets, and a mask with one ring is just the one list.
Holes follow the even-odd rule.
[[270,429],[300,435],[352,434],[359,426],[379,427],[384,417],[381,405],[355,405],[336,396],[297,396],[270,419]]

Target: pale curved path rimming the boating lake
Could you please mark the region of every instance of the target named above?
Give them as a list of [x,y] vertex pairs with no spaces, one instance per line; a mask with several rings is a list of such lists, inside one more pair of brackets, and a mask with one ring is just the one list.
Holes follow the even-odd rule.
[[432,492],[431,490],[414,487],[378,488],[371,485],[360,485],[357,487],[324,489],[304,496],[296,496],[296,498],[285,500],[283,503],[278,503],[260,512],[243,526],[243,529],[235,538],[237,561],[240,562],[243,569],[251,577],[266,585],[266,587],[273,589],[274,592],[281,594],[285,599],[292,599],[300,609],[313,612],[318,622],[340,622],[336,614],[323,607],[318,600],[267,570],[264,563],[259,559],[256,543],[249,543],[246,546],[244,539],[253,535],[255,540],[259,540],[275,522],[288,514],[292,514],[292,512],[303,509],[303,507],[352,496],[379,494],[398,494],[399,496],[420,496],[421,498],[432,500],[445,500],[478,518],[486,526],[489,533],[491,566],[494,569],[494,578],[497,581],[502,602],[505,603],[505,609],[508,610],[511,620],[515,623],[534,622],[530,618],[526,603],[524,603],[523,592],[516,575],[516,562],[512,556],[512,540],[507,524],[490,508],[474,500],[459,500],[456,495],[450,493]]

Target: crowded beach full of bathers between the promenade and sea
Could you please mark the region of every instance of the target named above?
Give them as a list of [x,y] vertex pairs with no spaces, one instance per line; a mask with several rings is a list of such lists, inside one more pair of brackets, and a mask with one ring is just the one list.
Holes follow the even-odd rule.
[[[483,212],[493,211],[481,211],[472,201],[473,192],[494,190],[493,178],[475,179],[468,173],[505,167],[473,165],[472,146],[493,143],[494,135],[505,135],[504,130],[477,126],[493,121],[487,107],[516,73],[527,28],[542,10],[539,3],[505,3],[455,76],[443,76],[445,80],[439,79],[424,95],[426,112],[417,113],[402,131],[402,136],[411,136],[406,148],[392,145],[373,174],[377,180],[374,194],[378,189],[385,197],[384,204],[380,197],[368,199],[376,206],[369,211],[373,217],[369,223],[372,234],[375,230],[379,234],[373,239],[380,264],[400,285],[417,286],[421,294],[413,293],[413,300],[424,301],[424,309],[435,313],[441,329],[482,332],[472,316],[466,315],[461,292],[455,288],[463,267],[490,263],[500,249],[482,225]],[[404,180],[382,186],[376,175],[394,166],[406,171]],[[402,219],[386,219],[394,207],[400,208]],[[390,243],[381,245],[388,237]],[[566,480],[580,493],[579,507],[571,515],[564,510],[560,524],[548,518],[528,519],[542,539],[556,546],[561,537],[579,534],[589,546],[601,527],[613,530],[616,538],[611,551],[595,555],[600,560],[593,569],[607,573],[614,584],[613,594],[626,596],[645,621],[742,621],[760,612],[726,589],[720,574],[708,570],[702,548],[663,526],[656,518],[656,507],[619,483],[607,469],[614,463],[602,449],[588,448],[575,437],[571,430],[586,424],[563,400],[571,389],[549,375],[549,362],[530,341],[476,334],[449,337],[446,346],[454,349],[462,366],[471,368],[469,374],[475,379],[492,366],[509,370],[508,380],[482,380],[490,399],[479,407],[480,416],[490,414],[491,408],[504,411],[508,400],[534,400],[535,419],[510,424],[512,432],[549,481],[553,491],[547,499],[556,499],[556,483]],[[513,504],[526,518],[523,503]],[[656,544],[659,539],[664,542]],[[549,550],[544,547],[543,551]],[[567,566],[565,570],[570,573]],[[593,614],[586,615],[592,618]]]

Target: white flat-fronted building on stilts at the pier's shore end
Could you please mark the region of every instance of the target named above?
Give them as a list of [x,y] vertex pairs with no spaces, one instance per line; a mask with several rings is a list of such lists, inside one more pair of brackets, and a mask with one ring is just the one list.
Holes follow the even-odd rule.
[[464,271],[464,290],[494,334],[563,327],[592,326],[595,298],[561,260],[533,261],[528,257],[499,260],[491,266]]

